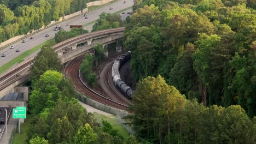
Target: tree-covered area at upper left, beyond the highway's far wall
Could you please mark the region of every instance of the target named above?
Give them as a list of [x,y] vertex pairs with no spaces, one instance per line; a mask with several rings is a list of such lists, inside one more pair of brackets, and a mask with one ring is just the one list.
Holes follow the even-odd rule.
[[[93,0],[91,0],[93,1]],[[83,8],[90,0],[0,0],[0,43]]]

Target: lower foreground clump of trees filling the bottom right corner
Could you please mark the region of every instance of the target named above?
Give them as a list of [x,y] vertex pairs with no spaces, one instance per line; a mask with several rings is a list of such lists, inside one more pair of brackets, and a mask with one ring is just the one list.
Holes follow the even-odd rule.
[[205,107],[185,99],[161,76],[138,82],[127,118],[153,143],[254,143],[256,123],[239,105]]

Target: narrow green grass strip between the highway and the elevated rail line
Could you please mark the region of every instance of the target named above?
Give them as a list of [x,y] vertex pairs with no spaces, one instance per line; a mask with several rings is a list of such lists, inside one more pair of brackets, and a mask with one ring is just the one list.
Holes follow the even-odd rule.
[[2,65],[2,67],[0,67],[0,74],[2,74],[5,70],[8,70],[14,64],[20,63],[20,62],[24,61],[24,58],[30,56],[32,53],[34,53],[37,50],[39,50],[45,43],[46,42],[44,42],[43,44],[37,45],[33,49],[30,49],[30,50],[22,53],[20,56],[14,58],[14,59],[11,59],[11,61],[9,61],[8,63],[5,63],[4,65]]

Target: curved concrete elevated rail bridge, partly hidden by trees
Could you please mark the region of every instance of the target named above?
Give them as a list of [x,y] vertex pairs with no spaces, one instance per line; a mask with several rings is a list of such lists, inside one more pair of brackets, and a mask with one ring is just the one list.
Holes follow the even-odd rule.
[[[104,45],[114,43],[117,39],[123,38],[124,29],[124,27],[113,28],[79,35],[54,45],[53,49],[58,53],[61,62],[64,64],[75,57],[84,55],[96,44],[103,44],[104,47]],[[105,55],[107,56],[108,53],[106,52]],[[34,57],[28,58],[0,75],[0,79],[2,79],[0,82],[0,98],[9,92],[14,92],[16,86],[28,80],[33,59]]]

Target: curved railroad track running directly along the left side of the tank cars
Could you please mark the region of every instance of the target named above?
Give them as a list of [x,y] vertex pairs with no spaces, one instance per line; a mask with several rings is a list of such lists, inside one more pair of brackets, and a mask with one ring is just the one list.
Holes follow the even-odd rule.
[[113,87],[114,86],[113,85],[113,80],[112,80],[112,65],[113,65],[113,63],[114,63],[114,61],[110,62],[106,71],[104,71],[104,83],[105,83],[106,87],[108,88],[108,90],[110,91],[109,96],[112,99],[114,99],[114,98],[117,99],[121,103],[124,103],[126,105],[130,105],[131,101],[126,99],[123,94],[119,94],[120,92],[117,92],[118,89]]

